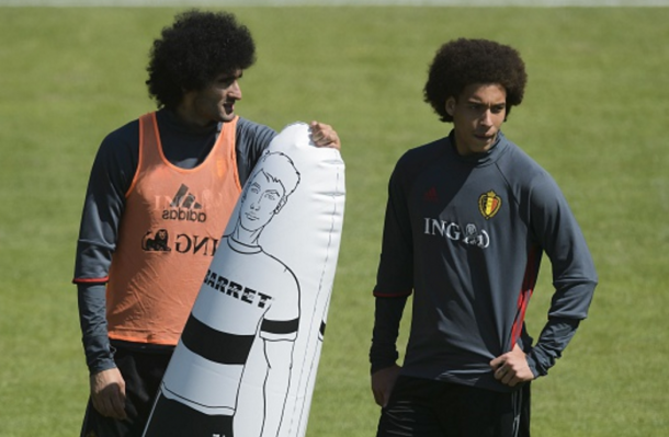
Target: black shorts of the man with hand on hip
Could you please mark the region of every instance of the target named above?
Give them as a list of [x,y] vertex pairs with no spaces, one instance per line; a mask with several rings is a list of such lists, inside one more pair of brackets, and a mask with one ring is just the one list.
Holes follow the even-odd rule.
[[529,437],[530,383],[511,393],[397,378],[377,437]]

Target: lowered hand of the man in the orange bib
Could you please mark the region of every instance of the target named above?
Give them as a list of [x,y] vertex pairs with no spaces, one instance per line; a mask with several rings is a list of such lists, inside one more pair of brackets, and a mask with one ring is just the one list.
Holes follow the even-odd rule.
[[91,401],[100,414],[118,421],[125,413],[125,380],[117,368],[91,375]]

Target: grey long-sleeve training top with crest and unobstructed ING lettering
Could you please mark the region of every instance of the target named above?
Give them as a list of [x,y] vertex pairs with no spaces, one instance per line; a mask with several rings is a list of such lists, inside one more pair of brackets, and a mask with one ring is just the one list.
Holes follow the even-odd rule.
[[[587,317],[597,274],[553,177],[499,134],[487,153],[457,154],[453,134],[409,150],[388,187],[372,371],[397,358],[406,298],[413,313],[402,375],[497,391],[489,363],[520,344],[545,375]],[[555,292],[537,344],[524,314],[543,254]]]

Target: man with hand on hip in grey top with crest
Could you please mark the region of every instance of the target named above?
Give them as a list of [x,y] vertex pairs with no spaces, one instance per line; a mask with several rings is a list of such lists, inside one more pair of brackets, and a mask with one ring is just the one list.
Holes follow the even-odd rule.
[[[530,381],[587,317],[598,279],[579,226],[500,130],[525,82],[518,51],[491,41],[451,41],[432,61],[424,100],[453,129],[406,152],[388,184],[370,350],[378,436],[529,436]],[[555,292],[532,345],[524,314],[544,253]]]

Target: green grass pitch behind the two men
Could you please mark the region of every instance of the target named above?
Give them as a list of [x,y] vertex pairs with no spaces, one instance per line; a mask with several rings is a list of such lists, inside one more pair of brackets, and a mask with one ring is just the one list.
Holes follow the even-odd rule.
[[[102,137],[151,111],[148,47],[175,9],[0,8],[0,437],[78,435],[87,399],[70,284]],[[336,126],[347,216],[308,436],[373,435],[371,288],[386,181],[447,133],[421,90],[457,36],[515,46],[530,82],[506,134],[563,187],[600,286],[565,357],[535,382],[540,437],[669,435],[669,9],[235,8],[259,61],[238,112]],[[529,313],[552,294],[544,264]]]

